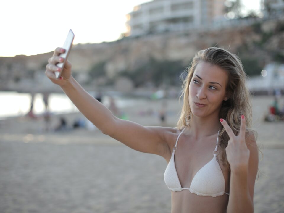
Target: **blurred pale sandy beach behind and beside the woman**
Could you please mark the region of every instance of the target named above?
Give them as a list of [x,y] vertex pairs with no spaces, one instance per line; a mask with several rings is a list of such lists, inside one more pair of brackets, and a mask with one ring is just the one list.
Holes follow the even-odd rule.
[[[272,100],[252,99],[263,153],[255,184],[256,213],[284,212],[284,122],[263,122]],[[165,101],[141,101],[120,110],[128,120],[156,126],[161,125],[162,104]],[[173,127],[181,106],[176,99],[166,100],[166,105],[167,126]],[[68,124],[83,118],[80,113],[61,116]],[[53,115],[50,126],[58,120]],[[0,121],[1,213],[170,213],[171,193],[164,184],[167,162],[162,157],[132,150],[99,130],[45,132],[44,127],[43,118]]]

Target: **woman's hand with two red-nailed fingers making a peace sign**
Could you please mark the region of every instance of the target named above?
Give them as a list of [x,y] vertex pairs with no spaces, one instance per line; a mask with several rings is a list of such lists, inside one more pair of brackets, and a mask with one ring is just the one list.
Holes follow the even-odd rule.
[[225,131],[230,137],[226,147],[227,160],[230,163],[231,171],[248,168],[249,165],[249,149],[246,146],[246,119],[241,116],[241,128],[239,134],[236,136],[230,126],[224,119],[220,119]]

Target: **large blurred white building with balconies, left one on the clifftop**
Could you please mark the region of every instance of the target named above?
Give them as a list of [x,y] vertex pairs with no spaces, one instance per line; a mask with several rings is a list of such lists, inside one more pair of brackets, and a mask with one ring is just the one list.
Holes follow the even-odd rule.
[[224,19],[225,0],[154,0],[134,7],[127,17],[128,35],[187,31]]

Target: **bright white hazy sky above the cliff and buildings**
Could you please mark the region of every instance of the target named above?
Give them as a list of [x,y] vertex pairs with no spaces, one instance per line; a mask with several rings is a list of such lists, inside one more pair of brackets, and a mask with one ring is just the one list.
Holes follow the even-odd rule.
[[[148,0],[151,1],[151,0]],[[35,55],[62,46],[69,29],[76,43],[114,41],[126,14],[147,0],[6,0],[0,3],[0,57]],[[260,0],[243,0],[258,10]]]

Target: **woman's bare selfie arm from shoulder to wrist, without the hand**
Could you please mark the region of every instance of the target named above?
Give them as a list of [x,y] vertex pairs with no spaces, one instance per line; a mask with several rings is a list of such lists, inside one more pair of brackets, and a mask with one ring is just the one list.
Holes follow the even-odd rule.
[[115,117],[106,106],[88,94],[73,77],[61,88],[80,112],[102,133],[137,151],[164,156],[165,152],[170,150],[164,135],[172,128],[144,127]]

